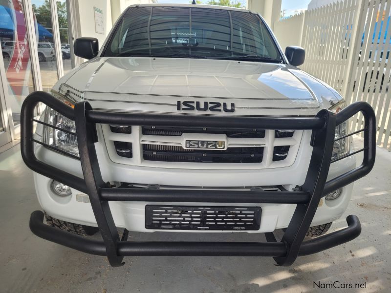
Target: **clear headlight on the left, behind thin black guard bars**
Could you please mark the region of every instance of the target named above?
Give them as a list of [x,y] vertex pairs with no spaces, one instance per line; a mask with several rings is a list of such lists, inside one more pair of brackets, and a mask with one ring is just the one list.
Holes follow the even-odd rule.
[[43,126],[43,144],[58,149],[61,152],[79,157],[76,126],[73,120],[70,120],[57,111],[46,107],[41,117],[41,121],[45,124],[57,127],[53,128],[46,125]]

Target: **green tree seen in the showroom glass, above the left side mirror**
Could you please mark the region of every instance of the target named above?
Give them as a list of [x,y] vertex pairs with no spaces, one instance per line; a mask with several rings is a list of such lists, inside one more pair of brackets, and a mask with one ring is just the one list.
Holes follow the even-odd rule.
[[[48,0],[37,7],[35,4],[32,5],[35,12],[35,17],[37,22],[40,23],[43,27],[49,28],[50,32],[53,32],[52,28],[52,19],[50,16],[50,4]],[[65,1],[57,1],[57,15],[58,15],[58,24],[60,28],[60,40],[62,43],[68,43],[68,20],[66,13],[66,3]],[[53,40],[51,40],[53,41]]]

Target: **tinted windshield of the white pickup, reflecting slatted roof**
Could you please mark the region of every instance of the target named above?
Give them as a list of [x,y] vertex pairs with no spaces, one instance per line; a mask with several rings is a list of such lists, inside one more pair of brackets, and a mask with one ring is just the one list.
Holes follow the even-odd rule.
[[102,56],[282,63],[276,44],[258,15],[193,7],[129,8]]

